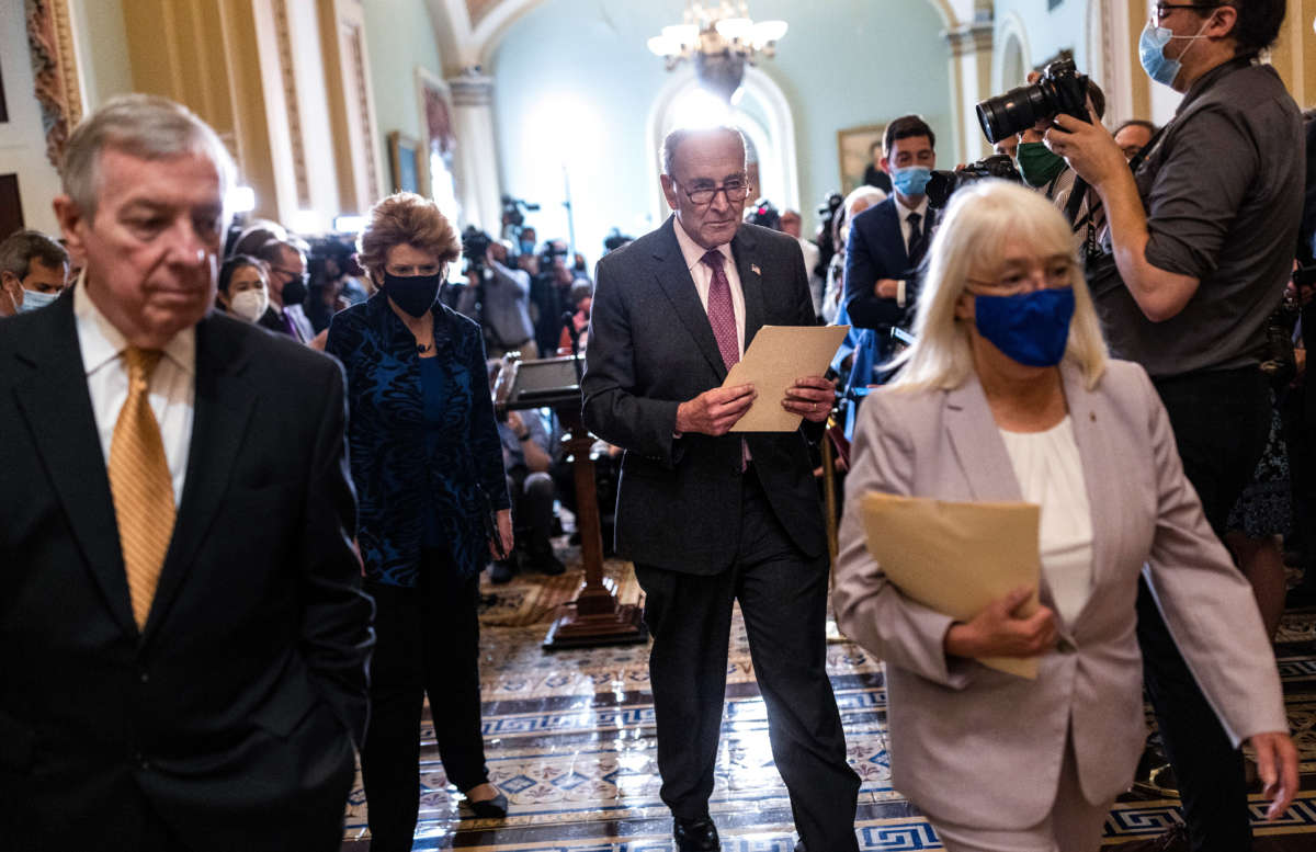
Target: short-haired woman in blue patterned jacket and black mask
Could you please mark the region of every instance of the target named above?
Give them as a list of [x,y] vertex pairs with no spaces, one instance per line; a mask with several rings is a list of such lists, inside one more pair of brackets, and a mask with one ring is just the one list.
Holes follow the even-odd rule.
[[325,351],[347,373],[378,634],[361,769],[370,848],[390,852],[412,847],[426,693],[447,780],[476,815],[507,815],[484,767],[476,602],[488,555],[512,550],[512,514],[480,329],[436,301],[461,251],[451,224],[433,201],[392,195],[370,210],[358,247],[379,292],[334,316]]

